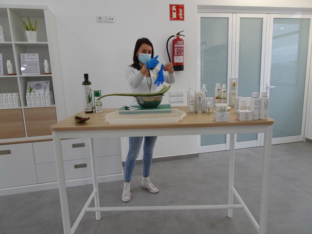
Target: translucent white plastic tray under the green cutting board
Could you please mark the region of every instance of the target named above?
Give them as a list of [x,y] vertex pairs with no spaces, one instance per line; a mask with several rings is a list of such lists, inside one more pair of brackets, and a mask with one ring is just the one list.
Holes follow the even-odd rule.
[[[143,110],[141,110],[143,111]],[[153,124],[153,123],[178,123],[183,119],[186,113],[179,109],[168,109],[168,112],[163,113],[164,109],[153,113],[146,110],[144,114],[119,114],[119,111],[108,113],[105,115],[105,122],[110,124]]]

